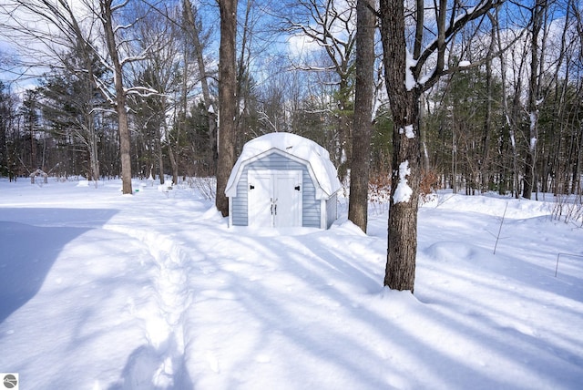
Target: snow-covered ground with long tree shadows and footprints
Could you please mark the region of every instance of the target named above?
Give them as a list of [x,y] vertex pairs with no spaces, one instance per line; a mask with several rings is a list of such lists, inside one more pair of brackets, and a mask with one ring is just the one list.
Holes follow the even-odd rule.
[[386,214],[368,236],[345,212],[229,228],[195,190],[120,188],[0,180],[0,372],[21,389],[583,385],[583,230],[552,204],[425,204],[412,295],[383,288]]

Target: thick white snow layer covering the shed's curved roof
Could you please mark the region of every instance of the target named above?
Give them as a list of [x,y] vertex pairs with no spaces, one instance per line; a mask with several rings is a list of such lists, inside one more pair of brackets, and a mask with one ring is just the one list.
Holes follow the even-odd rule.
[[[317,180],[326,197],[340,190],[341,184],[340,180],[338,180],[338,172],[330,160],[328,150],[323,149],[322,146],[311,139],[306,139],[296,134],[270,133],[251,139],[243,146],[243,150],[231,170],[229,181],[227,182],[225,194],[228,197],[237,195],[236,183],[240,178],[240,170],[244,168],[244,165],[271,149],[281,150],[309,163],[314,179]],[[322,194],[322,197],[324,194]]]

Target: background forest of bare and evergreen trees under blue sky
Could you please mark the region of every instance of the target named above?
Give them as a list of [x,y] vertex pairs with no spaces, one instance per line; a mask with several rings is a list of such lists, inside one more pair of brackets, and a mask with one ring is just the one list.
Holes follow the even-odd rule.
[[[356,1],[240,1],[237,15],[235,153],[289,131],[328,149],[346,179],[358,152]],[[447,66],[459,71],[421,101],[423,191],[580,195],[582,15],[578,0],[506,1],[447,43]],[[133,176],[214,176],[219,25],[212,1],[0,2],[0,174],[118,177],[118,82]],[[391,184],[382,51],[377,31],[369,196]]]

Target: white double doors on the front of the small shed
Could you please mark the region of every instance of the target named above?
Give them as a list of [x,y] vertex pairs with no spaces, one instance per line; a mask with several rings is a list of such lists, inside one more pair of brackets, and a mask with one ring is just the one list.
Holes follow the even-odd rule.
[[302,171],[250,170],[250,226],[302,226]]

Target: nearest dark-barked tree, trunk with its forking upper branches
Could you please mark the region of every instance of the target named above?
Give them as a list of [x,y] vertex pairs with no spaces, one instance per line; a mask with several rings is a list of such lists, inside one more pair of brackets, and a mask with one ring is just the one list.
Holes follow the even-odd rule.
[[[393,115],[393,170],[384,285],[414,292],[420,159],[420,97],[447,74],[471,64],[447,67],[449,42],[469,22],[504,0],[477,0],[469,5],[439,0],[427,10],[416,0],[405,10],[403,0],[381,0],[379,17],[384,51],[384,77]],[[473,4],[472,4],[473,3]],[[427,11],[434,18],[425,22]],[[410,31],[413,26],[413,31]],[[411,34],[411,35],[410,35]],[[413,42],[407,37],[413,36]]]

